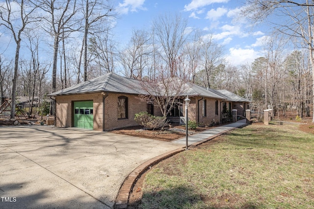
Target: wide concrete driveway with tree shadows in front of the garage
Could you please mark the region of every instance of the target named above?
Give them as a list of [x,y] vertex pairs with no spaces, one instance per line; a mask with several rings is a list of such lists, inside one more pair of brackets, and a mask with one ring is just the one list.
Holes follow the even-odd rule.
[[179,147],[74,128],[0,126],[0,208],[112,208],[133,169]]

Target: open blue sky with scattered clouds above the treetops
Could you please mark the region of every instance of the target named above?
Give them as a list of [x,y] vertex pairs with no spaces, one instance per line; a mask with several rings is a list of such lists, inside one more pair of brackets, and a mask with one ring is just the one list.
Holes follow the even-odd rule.
[[261,46],[267,31],[239,19],[242,6],[238,0],[117,0],[120,18],[115,28],[116,40],[124,45],[130,40],[132,28],[150,28],[158,15],[180,13],[188,19],[188,27],[212,33],[215,42],[225,46],[230,64],[251,63],[263,55]]

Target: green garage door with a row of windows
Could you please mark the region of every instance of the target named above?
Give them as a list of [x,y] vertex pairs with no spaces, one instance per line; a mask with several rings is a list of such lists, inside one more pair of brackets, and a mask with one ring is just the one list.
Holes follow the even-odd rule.
[[93,129],[93,101],[74,102],[74,127]]

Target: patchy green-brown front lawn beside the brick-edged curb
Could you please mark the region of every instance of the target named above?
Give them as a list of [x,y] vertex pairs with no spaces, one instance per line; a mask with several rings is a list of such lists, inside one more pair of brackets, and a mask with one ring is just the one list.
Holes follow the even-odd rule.
[[140,192],[134,208],[314,209],[314,135],[293,124],[236,129],[158,163]]

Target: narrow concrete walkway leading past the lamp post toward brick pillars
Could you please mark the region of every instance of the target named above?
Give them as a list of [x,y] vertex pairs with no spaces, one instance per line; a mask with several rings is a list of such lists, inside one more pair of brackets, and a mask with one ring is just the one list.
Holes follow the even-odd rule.
[[[215,135],[220,135],[220,134],[225,133],[227,131],[230,131],[234,128],[239,128],[239,127],[245,126],[245,124],[246,124],[246,119],[242,119],[242,120],[238,120],[237,122],[234,122],[234,123],[229,123],[227,125],[208,129],[208,130],[203,131],[199,134],[193,134],[191,136],[188,136],[188,139],[187,139],[188,146],[195,145],[195,143],[198,143],[204,139],[211,138]],[[183,137],[181,139],[177,139],[177,140],[174,140],[172,142],[178,143],[178,144],[185,144],[186,139],[185,139],[185,137]]]

